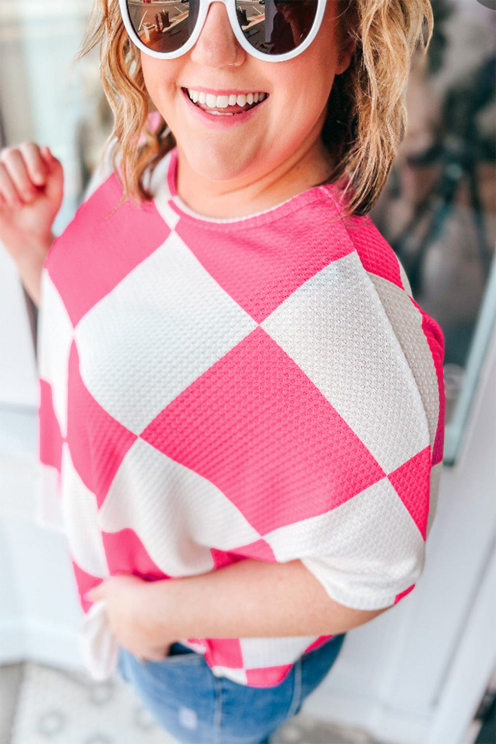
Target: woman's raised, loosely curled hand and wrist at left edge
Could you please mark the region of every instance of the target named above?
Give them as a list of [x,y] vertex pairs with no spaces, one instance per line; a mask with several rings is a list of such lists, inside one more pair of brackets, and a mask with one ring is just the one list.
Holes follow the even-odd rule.
[[50,248],[64,190],[62,163],[48,147],[23,142],[0,150],[0,241],[19,264],[32,246]]

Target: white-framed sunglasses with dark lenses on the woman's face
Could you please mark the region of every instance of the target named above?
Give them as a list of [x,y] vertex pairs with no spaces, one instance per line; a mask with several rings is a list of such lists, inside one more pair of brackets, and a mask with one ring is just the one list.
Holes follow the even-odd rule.
[[[129,39],[150,57],[173,60],[196,43],[215,0],[119,0]],[[219,0],[234,36],[257,60],[292,60],[312,43],[326,0]]]

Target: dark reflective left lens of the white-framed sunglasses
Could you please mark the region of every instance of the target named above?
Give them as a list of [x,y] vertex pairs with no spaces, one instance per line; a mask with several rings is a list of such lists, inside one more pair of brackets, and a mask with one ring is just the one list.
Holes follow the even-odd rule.
[[152,51],[181,48],[193,33],[200,10],[200,0],[127,0],[126,4],[132,28]]

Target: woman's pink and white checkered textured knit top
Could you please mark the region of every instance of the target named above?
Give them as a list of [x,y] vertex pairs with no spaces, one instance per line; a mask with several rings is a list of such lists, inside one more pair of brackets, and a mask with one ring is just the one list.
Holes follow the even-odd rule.
[[[95,679],[117,660],[82,596],[100,581],[300,559],[379,609],[415,586],[437,504],[444,339],[370,219],[329,185],[202,217],[176,173],[174,148],[117,210],[112,173],[42,270],[39,520],[68,537]],[[331,637],[181,643],[258,687]]]

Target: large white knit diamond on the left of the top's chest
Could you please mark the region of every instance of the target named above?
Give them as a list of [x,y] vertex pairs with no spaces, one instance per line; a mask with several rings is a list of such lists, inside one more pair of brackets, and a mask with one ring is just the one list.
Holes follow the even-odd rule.
[[80,373],[95,400],[140,434],[255,327],[172,232],[77,324]]

